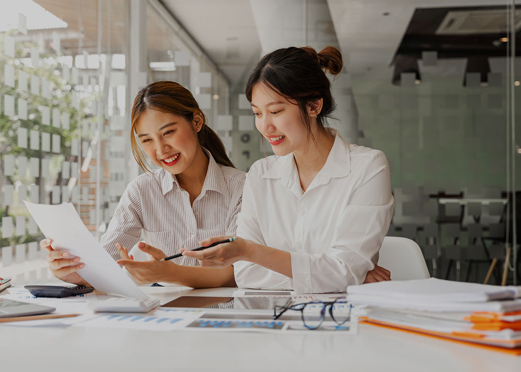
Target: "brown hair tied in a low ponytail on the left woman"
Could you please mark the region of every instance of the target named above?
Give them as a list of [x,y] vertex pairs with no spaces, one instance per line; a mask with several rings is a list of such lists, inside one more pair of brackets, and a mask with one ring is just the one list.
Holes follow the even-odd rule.
[[226,154],[224,144],[212,128],[206,124],[206,116],[199,108],[197,101],[192,93],[181,84],[173,81],[157,81],[145,86],[135,97],[132,106],[130,143],[132,154],[140,167],[146,172],[150,171],[143,162],[140,146],[135,139],[135,126],[141,115],[147,109],[155,109],[164,113],[181,115],[189,122],[193,120],[194,114],[199,114],[203,118],[201,130],[197,132],[199,144],[205,147],[214,157],[217,163],[233,167],[233,163]]

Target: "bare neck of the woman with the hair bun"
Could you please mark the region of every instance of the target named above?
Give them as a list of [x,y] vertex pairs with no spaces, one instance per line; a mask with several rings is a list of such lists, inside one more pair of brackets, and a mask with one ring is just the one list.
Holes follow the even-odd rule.
[[326,130],[319,130],[318,126],[315,126],[313,136],[315,140],[310,134],[307,146],[293,152],[299,175],[316,175],[326,164],[331,147],[333,147],[334,137]]

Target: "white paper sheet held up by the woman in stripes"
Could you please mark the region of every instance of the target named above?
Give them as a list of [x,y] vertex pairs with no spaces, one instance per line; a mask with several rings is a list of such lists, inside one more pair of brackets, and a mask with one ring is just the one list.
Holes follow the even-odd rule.
[[55,250],[81,257],[85,267],[78,274],[91,286],[101,292],[139,299],[149,298],[87,230],[71,203],[24,203],[45,237],[53,239]]

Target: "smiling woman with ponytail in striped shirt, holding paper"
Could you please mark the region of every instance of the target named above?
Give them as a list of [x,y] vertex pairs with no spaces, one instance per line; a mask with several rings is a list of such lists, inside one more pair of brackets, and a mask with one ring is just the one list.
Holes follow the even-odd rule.
[[[241,209],[245,173],[233,167],[190,91],[172,81],[143,88],[132,107],[130,143],[145,173],[129,183],[101,244],[138,284],[235,287],[232,266],[204,268],[191,257],[159,262],[199,246],[202,239],[235,234]],[[147,160],[158,169],[151,170]],[[142,233],[145,243],[138,247],[151,258],[135,261],[127,247]],[[78,272],[81,258],[54,251],[51,243],[40,245],[49,251],[53,274],[86,285]]]

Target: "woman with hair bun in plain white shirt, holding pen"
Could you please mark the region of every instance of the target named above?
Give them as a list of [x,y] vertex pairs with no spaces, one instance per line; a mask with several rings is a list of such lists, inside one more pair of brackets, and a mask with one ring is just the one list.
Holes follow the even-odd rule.
[[390,280],[376,265],[394,207],[387,159],[326,126],[334,110],[326,73],[338,75],[342,65],[334,47],[289,47],[261,59],[246,97],[275,155],[247,174],[240,238],[184,255],[206,267],[233,264],[244,288],[345,292]]

